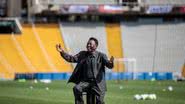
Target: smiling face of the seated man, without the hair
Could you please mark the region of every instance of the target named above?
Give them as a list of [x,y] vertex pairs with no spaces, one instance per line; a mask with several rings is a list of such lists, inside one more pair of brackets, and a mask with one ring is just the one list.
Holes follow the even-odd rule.
[[94,40],[89,40],[87,42],[86,48],[87,48],[87,51],[94,52],[97,48],[95,41]]

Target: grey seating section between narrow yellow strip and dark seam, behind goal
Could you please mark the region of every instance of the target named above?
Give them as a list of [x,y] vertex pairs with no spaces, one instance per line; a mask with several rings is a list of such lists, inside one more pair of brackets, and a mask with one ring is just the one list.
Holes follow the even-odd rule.
[[152,72],[155,26],[122,22],[121,30],[124,57],[136,58],[137,72]]

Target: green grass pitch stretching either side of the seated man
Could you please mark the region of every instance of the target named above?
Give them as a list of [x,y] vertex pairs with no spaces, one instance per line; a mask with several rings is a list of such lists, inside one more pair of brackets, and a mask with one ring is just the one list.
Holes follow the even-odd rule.
[[[33,89],[30,88],[33,87]],[[120,89],[120,86],[123,88]],[[168,86],[173,91],[163,91]],[[45,88],[48,87],[49,90]],[[0,104],[74,104],[73,84],[53,81],[0,81]],[[185,104],[185,82],[175,81],[107,81],[106,104]],[[155,93],[156,100],[134,100],[135,94]]]

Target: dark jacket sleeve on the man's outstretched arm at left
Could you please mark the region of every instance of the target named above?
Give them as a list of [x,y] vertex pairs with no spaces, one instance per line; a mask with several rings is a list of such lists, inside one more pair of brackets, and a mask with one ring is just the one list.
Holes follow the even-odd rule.
[[[81,52],[80,52],[81,53]],[[60,55],[67,61],[67,62],[71,62],[71,63],[77,63],[80,57],[80,53],[76,54],[76,55],[69,55],[66,52],[60,52]]]

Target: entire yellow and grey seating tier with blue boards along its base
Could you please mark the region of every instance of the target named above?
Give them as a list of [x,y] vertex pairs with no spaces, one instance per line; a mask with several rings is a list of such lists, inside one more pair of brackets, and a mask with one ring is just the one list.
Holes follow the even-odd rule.
[[116,58],[107,79],[120,76],[160,80],[172,78],[172,73],[179,76],[184,73],[185,23],[153,21],[22,24],[22,34],[0,35],[0,76],[13,78],[14,73],[36,73],[37,77],[41,74],[44,78],[69,78],[74,65],[60,57],[55,45],[61,43],[74,55],[85,50],[91,36],[98,38],[99,51]]

